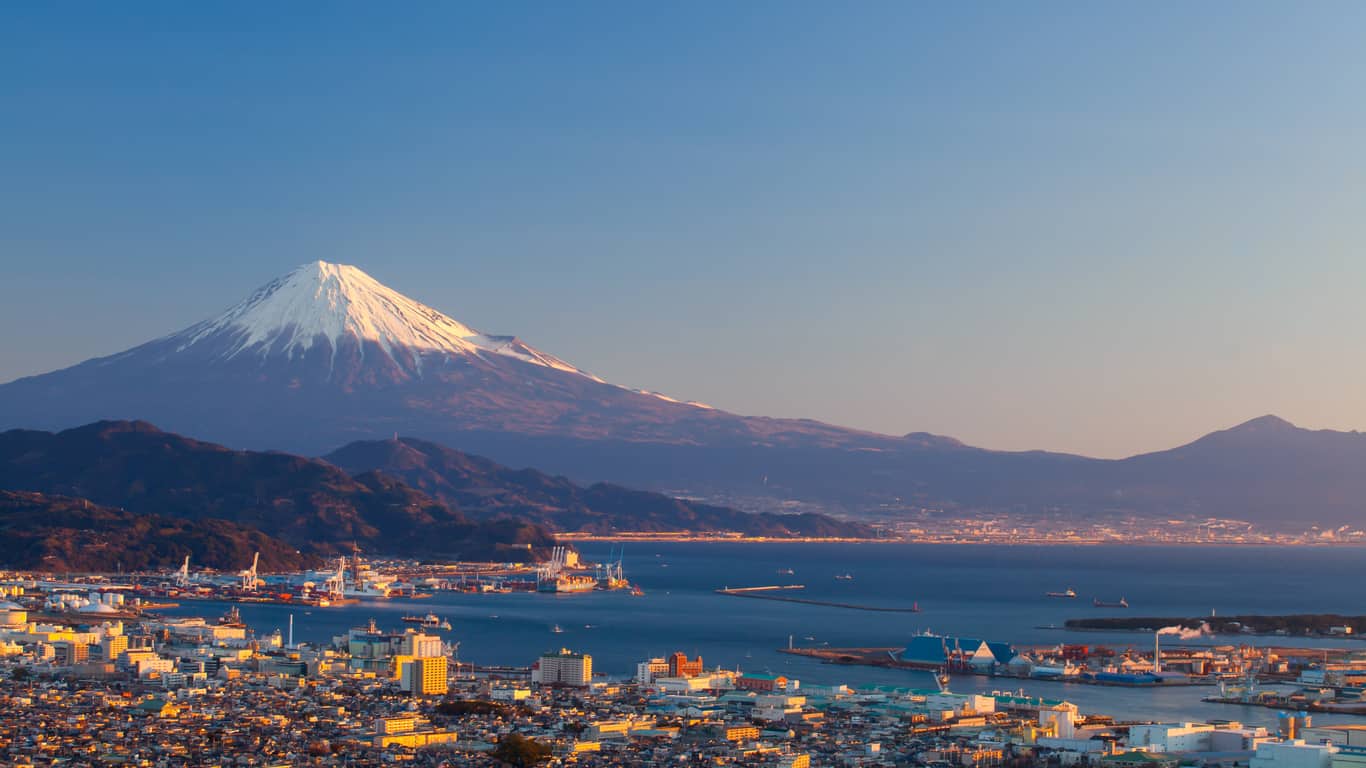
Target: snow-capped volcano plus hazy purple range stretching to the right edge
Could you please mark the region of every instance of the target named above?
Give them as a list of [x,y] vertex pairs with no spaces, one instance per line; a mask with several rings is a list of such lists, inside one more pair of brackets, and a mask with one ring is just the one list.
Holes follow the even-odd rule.
[[[1355,432],[1264,417],[1171,451],[1102,461],[742,417],[605,383],[326,262],[178,333],[0,385],[0,426],[104,418],[309,455],[400,433],[578,482],[768,507],[1366,522],[1366,437]],[[384,466],[357,466],[367,463]],[[422,480],[433,493],[434,474]]]

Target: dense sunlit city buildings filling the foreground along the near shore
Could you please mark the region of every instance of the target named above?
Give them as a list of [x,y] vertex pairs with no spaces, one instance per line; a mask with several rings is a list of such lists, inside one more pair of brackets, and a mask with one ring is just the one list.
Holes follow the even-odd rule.
[[[481,666],[425,626],[372,620],[329,642],[295,642],[292,629],[247,626],[231,604],[220,618],[133,615],[116,590],[55,599],[23,575],[0,592],[4,765],[1366,765],[1366,723],[1315,724],[1307,698],[1279,700],[1284,711],[1265,727],[1130,722],[1061,698],[955,693],[947,671],[964,666],[1052,674],[1044,649],[967,638],[917,637],[900,650],[945,670],[936,687],[851,687],[709,668],[683,652],[645,657],[634,674],[601,674],[590,648]],[[1064,667],[1104,656],[1055,652],[1070,656]],[[1305,690],[1359,698],[1366,683],[1366,653],[1259,655]],[[1161,685],[1238,674],[1251,652],[1161,659],[1165,670],[1111,664]]]

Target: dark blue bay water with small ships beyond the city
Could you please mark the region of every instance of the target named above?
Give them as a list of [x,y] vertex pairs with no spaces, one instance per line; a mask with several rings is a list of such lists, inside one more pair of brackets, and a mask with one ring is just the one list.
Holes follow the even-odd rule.
[[[585,544],[586,559],[605,559],[609,544]],[[1272,547],[1003,547],[925,544],[642,544],[627,548],[626,575],[645,597],[624,592],[587,594],[438,594],[419,601],[372,601],[305,614],[283,605],[245,605],[258,631],[284,629],[295,638],[326,641],[372,616],[400,627],[407,612],[434,611],[454,625],[460,659],[479,664],[529,664],[541,652],[567,646],[591,653],[598,671],[630,674],[635,661],[672,650],[702,655],[708,666],[772,670],[807,683],[907,685],[928,687],[922,672],[833,667],[777,653],[798,645],[896,646],[921,630],[1015,644],[1104,642],[1149,648],[1150,634],[1078,634],[1038,629],[1091,615],[1199,616],[1231,614],[1366,614],[1363,548]],[[794,575],[779,575],[792,568]],[[850,581],[836,579],[848,573]],[[910,607],[888,614],[719,596],[721,586],[803,584],[795,593],[814,600]],[[1044,597],[1075,588],[1076,600]],[[1091,599],[1130,601],[1128,611],[1091,607]],[[204,604],[176,614],[195,615]],[[553,634],[559,625],[564,631]],[[814,637],[814,641],[806,640]],[[1272,638],[1213,638],[1208,642],[1273,642]],[[1306,642],[1274,638],[1277,644]],[[1361,641],[1314,641],[1361,645]],[[1261,708],[1199,702],[1212,689],[1111,689],[966,676],[953,690],[993,687],[1068,698],[1083,712],[1179,719],[1224,717],[1270,723]],[[1320,716],[1320,722],[1330,717]]]

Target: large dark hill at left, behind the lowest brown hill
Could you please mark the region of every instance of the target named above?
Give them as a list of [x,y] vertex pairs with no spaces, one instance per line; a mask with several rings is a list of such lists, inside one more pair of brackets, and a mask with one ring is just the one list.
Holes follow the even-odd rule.
[[[130,512],[228,521],[313,555],[369,552],[529,560],[553,538],[516,519],[470,521],[380,474],[317,459],[231,451],[146,422],[0,433],[0,488]],[[245,567],[245,566],[243,566]]]

